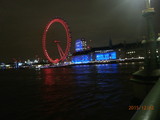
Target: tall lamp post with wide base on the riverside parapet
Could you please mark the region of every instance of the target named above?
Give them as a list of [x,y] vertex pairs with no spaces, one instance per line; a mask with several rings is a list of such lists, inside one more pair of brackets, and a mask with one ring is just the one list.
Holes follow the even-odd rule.
[[138,82],[155,82],[160,77],[160,69],[157,58],[157,40],[154,31],[153,17],[154,8],[151,7],[150,0],[146,0],[146,9],[142,11],[142,16],[147,22],[147,39],[145,42],[144,69],[133,73],[131,80]]

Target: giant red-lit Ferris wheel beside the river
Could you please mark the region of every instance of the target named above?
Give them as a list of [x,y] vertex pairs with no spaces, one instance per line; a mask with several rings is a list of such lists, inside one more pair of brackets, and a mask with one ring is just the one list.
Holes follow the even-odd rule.
[[[65,29],[65,33],[66,33],[66,45],[64,50],[62,49],[62,47],[60,46],[60,42],[61,41],[57,41],[55,40],[54,43],[57,46],[57,50],[58,50],[58,54],[59,54],[59,58],[52,58],[50,57],[50,54],[47,50],[46,44],[47,44],[47,32],[50,29],[51,25],[54,23],[60,23],[64,29]],[[71,34],[70,34],[70,29],[68,24],[66,23],[66,21],[64,21],[62,18],[55,18],[53,20],[51,20],[45,27],[44,32],[43,32],[43,38],[42,38],[42,48],[43,48],[43,53],[45,55],[45,57],[49,60],[49,62],[51,63],[58,63],[60,61],[64,61],[66,60],[66,57],[68,56],[69,50],[71,47]]]

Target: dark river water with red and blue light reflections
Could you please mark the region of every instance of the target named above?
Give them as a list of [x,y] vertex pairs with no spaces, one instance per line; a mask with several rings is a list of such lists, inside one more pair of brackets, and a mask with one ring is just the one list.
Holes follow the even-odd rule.
[[129,120],[141,63],[0,71],[0,120]]

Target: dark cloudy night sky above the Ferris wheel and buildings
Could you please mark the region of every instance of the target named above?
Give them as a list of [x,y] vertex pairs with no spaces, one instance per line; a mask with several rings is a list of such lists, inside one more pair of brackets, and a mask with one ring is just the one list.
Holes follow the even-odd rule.
[[[155,30],[160,32],[160,1],[155,7]],[[0,1],[0,62],[44,57],[42,33],[55,16],[63,17],[72,32],[72,51],[76,39],[84,37],[92,47],[140,41],[146,35],[141,11],[145,0],[1,0]],[[53,37],[64,36],[55,27]],[[55,49],[55,48],[54,48]]]

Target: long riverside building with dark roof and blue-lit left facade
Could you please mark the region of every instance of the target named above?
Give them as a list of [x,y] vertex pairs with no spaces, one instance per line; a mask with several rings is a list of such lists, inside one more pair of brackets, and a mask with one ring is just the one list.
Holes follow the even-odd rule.
[[[81,40],[81,39],[80,39]],[[77,43],[79,44],[79,43]],[[86,45],[86,44],[85,44]],[[160,42],[157,43],[160,46]],[[82,46],[81,46],[82,47]],[[108,62],[134,62],[144,61],[145,45],[142,42],[119,43],[106,47],[91,48],[89,50],[79,46],[75,53],[72,54],[72,63],[108,63]],[[76,48],[75,48],[76,49]],[[156,50],[157,58],[160,58],[160,47]]]

